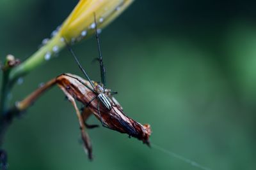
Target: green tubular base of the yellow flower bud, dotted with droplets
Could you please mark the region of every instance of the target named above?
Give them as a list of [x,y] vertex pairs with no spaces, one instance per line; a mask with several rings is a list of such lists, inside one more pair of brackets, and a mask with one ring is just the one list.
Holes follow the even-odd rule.
[[61,39],[60,34],[57,34],[46,45],[42,46],[42,48],[31,55],[31,57],[22,62],[22,64],[14,67],[12,71],[10,71],[9,81],[13,83],[20,76],[24,76],[36,67],[44,64],[49,60],[49,55],[52,57],[56,52],[60,52],[63,47],[65,47],[65,42]]

